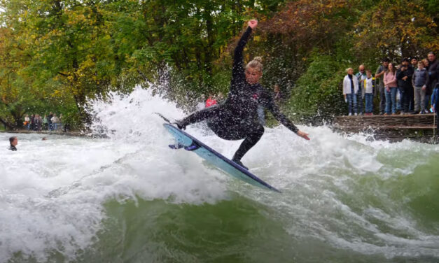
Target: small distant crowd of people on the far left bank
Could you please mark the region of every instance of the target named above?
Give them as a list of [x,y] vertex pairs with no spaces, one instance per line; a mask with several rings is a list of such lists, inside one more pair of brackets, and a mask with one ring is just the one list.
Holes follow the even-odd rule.
[[23,125],[30,131],[61,131],[64,128],[67,129],[67,125],[62,125],[63,117],[62,113],[58,117],[56,113],[50,112],[49,115],[44,115],[41,118],[39,114],[32,114],[30,117],[25,115],[25,121]]

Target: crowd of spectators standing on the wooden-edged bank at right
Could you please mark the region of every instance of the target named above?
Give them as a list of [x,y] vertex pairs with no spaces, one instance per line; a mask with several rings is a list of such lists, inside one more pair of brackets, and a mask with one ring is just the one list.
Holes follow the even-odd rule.
[[379,97],[376,113],[380,115],[436,112],[435,104],[439,99],[438,64],[435,53],[429,52],[427,59],[404,58],[399,65],[384,58],[375,76],[364,65],[358,66],[356,74],[354,69],[347,69],[343,79],[343,95],[348,115],[373,115],[374,97]]

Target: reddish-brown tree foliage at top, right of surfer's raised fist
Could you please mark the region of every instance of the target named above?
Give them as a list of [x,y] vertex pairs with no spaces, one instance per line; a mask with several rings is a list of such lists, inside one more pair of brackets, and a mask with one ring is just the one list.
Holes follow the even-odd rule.
[[283,41],[298,52],[315,48],[330,53],[337,41],[352,27],[354,3],[346,0],[299,0],[286,3],[261,27],[270,34],[281,34]]

